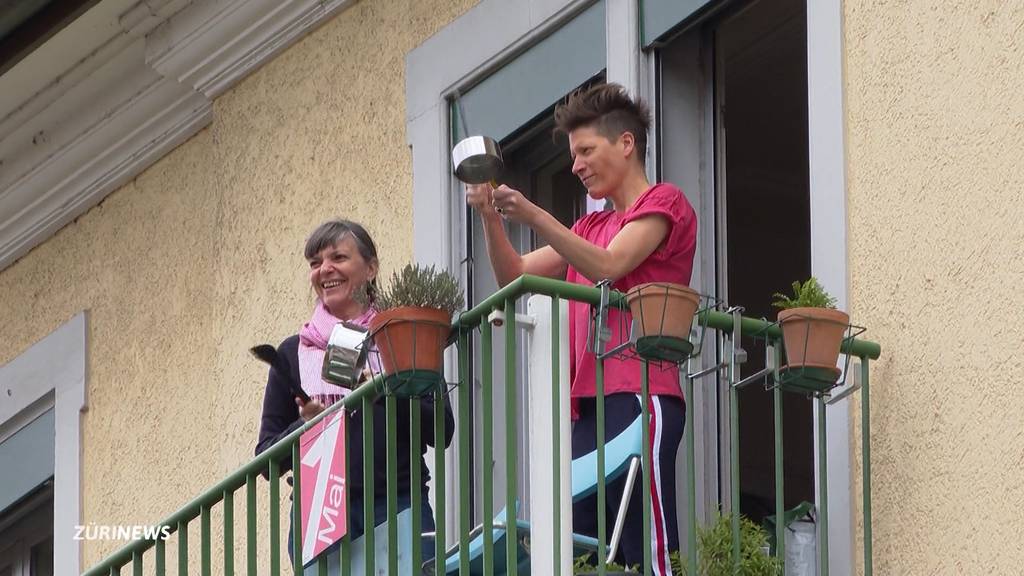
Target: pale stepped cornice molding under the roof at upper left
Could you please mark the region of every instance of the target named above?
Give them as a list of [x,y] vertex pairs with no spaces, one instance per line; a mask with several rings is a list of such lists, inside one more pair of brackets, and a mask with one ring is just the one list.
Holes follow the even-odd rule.
[[0,111],[0,270],[213,120],[212,100],[354,0],[140,0]]

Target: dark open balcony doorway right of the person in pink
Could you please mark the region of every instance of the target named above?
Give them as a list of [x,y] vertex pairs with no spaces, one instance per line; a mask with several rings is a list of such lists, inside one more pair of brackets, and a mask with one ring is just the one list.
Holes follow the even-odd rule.
[[[657,50],[660,167],[700,217],[694,286],[773,318],[771,294],[811,274],[807,120],[807,20],[803,0],[736,2]],[[764,366],[744,338],[742,372]],[[709,353],[711,354],[711,353]],[[706,359],[706,364],[716,358]],[[698,384],[698,499],[705,520],[728,502],[728,394]],[[785,395],[785,505],[814,501],[811,403]],[[772,394],[739,394],[740,511],[774,513]],[[701,457],[702,456],[702,457]]]

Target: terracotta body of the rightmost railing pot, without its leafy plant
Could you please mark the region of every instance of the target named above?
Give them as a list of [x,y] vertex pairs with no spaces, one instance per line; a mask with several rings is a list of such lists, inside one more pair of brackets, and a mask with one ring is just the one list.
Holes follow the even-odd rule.
[[778,323],[790,368],[836,368],[849,315],[830,308],[790,308],[778,313]]

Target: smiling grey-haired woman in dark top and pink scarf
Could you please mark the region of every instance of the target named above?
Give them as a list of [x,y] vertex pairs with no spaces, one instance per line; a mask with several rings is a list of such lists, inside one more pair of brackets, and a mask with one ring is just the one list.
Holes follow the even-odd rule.
[[[271,364],[267,378],[266,392],[263,396],[263,414],[260,422],[259,441],[256,453],[259,454],[278,441],[285,438],[303,423],[319,414],[326,407],[338,402],[348,392],[345,388],[327,382],[322,377],[324,355],[328,340],[334,327],[340,322],[348,322],[367,327],[377,315],[374,300],[377,295],[377,272],[379,260],[377,246],[370,234],[357,222],[351,220],[330,220],[324,222],[306,240],[304,250],[306,261],[309,262],[309,283],[316,293],[316,303],[312,317],[306,322],[299,333],[285,339],[278,346],[276,359]],[[296,390],[302,390],[308,401],[297,398]],[[412,486],[410,479],[410,411],[420,410],[421,441],[418,448],[420,458],[426,452],[427,446],[433,445],[434,409],[433,398],[413,400],[398,403],[398,417],[395,429],[386,429],[387,417],[384,404],[378,402],[374,406],[374,458],[377,462],[385,461],[385,440],[389,435],[397,439],[398,454],[398,507],[399,511],[411,505],[411,490],[420,490],[423,494],[421,502],[423,509],[421,518],[422,532],[433,530],[433,510],[427,498],[427,483],[429,474],[422,475],[421,484]],[[349,460],[347,486],[351,497],[348,509],[349,535],[356,539],[364,531],[362,516],[362,416],[360,413],[350,413],[348,418],[348,452]],[[445,442],[452,438],[455,427],[451,408],[445,406]],[[281,469],[291,467],[291,458],[281,460]],[[426,470],[426,462],[421,462],[421,469]],[[380,524],[386,516],[387,498],[385,487],[388,486],[385,466],[374,469],[374,491],[376,502],[374,516]],[[289,529],[288,550],[292,552],[292,531]],[[429,556],[432,547],[425,546],[424,552]],[[337,554],[337,549],[329,548],[325,553]],[[429,560],[429,558],[424,558]],[[337,562],[330,562],[334,568]]]

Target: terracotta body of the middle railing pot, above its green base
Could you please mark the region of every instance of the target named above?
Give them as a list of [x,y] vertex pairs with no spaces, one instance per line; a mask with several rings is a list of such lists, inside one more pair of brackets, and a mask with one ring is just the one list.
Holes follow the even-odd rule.
[[638,337],[670,336],[687,339],[700,294],[689,286],[670,282],[638,284],[626,293]]

